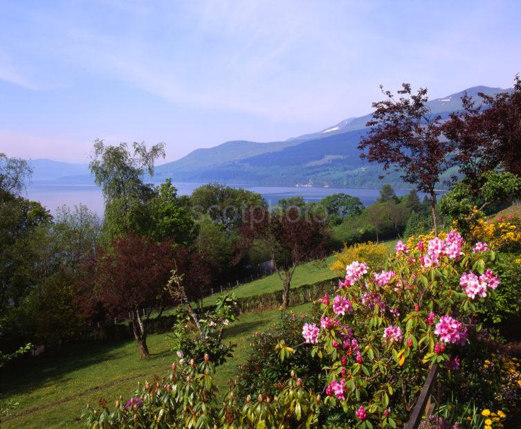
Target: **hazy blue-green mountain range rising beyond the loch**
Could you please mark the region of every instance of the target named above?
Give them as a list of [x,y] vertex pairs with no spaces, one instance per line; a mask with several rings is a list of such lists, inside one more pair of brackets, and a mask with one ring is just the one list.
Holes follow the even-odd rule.
[[[476,96],[483,92],[493,95],[509,91],[488,86],[474,86],[465,90]],[[432,113],[448,117],[461,109],[465,91],[429,101]],[[158,165],[154,180],[172,178],[183,182],[211,182],[248,185],[315,185],[331,188],[379,188],[378,176],[383,173],[378,165],[367,165],[360,159],[358,143],[367,133],[366,123],[371,113],[348,118],[316,133],[289,138],[285,141],[256,143],[235,140],[208,149],[196,149],[187,156]],[[48,159],[32,161],[33,180],[88,181],[86,164],[58,163]],[[387,183],[397,188],[410,187],[392,172]]]

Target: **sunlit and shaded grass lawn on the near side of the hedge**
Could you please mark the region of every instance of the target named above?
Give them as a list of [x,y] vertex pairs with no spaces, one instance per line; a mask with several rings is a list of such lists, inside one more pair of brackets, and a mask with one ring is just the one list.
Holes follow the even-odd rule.
[[[305,313],[311,304],[293,307]],[[228,379],[237,374],[237,365],[248,354],[248,336],[266,329],[280,317],[280,311],[249,313],[226,329],[225,341],[237,344],[235,356],[217,369],[216,383],[226,389]],[[152,354],[140,359],[134,341],[108,345],[67,347],[60,354],[48,354],[12,368],[2,374],[0,403],[18,402],[13,414],[25,413],[5,421],[2,428],[64,428],[78,424],[86,403],[104,397],[113,403],[121,394],[128,399],[138,381],[164,376],[173,361],[172,340],[168,334],[149,336]]]

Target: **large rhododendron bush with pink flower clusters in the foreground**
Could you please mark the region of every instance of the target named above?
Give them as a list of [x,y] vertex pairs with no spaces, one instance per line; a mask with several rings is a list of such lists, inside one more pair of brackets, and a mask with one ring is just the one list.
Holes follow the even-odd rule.
[[[495,293],[495,253],[450,231],[399,241],[383,271],[354,261],[338,289],[322,298],[320,324],[304,325],[311,354],[327,369],[325,404],[342,423],[371,428],[405,423],[430,365],[444,376],[459,354],[475,311]],[[445,374],[444,374],[445,373]]]

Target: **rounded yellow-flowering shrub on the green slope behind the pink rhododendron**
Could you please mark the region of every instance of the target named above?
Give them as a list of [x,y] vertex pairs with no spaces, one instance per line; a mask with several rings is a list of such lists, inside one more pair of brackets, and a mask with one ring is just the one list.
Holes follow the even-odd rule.
[[345,267],[353,261],[363,262],[372,266],[375,270],[381,269],[389,255],[385,244],[376,244],[371,241],[367,243],[344,244],[344,250],[335,254],[335,262],[331,264],[331,271],[344,271]]

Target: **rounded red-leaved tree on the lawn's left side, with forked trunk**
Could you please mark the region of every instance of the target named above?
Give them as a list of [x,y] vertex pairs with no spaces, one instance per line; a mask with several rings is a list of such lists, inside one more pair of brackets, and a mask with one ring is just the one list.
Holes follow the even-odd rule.
[[149,355],[145,321],[168,300],[173,255],[169,242],[130,236],[113,241],[95,264],[95,297],[111,316],[130,318],[141,357]]

